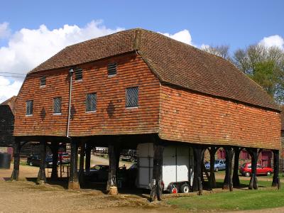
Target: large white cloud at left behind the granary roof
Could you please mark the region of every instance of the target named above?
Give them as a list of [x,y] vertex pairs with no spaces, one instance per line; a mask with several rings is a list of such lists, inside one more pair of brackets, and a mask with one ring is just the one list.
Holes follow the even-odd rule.
[[[49,30],[41,25],[38,29],[22,28],[11,34],[9,24],[0,23],[0,38],[9,39],[8,45],[0,47],[0,72],[26,74],[67,45],[121,30],[123,28],[107,28],[102,21],[91,21],[83,28],[66,24],[62,28]],[[0,102],[17,94],[21,82],[23,79],[1,77]]]

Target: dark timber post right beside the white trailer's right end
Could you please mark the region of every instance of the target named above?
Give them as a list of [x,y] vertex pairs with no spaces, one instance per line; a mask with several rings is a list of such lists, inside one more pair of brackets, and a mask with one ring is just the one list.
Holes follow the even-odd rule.
[[193,147],[193,157],[194,157],[194,177],[192,190],[194,192],[198,191],[198,195],[202,195],[202,148],[200,146]]

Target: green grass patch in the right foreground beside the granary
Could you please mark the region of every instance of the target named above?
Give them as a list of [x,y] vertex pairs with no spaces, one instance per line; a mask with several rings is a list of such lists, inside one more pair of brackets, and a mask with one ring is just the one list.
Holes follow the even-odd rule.
[[188,210],[249,210],[284,206],[284,190],[241,190],[210,195],[179,197],[168,204]]

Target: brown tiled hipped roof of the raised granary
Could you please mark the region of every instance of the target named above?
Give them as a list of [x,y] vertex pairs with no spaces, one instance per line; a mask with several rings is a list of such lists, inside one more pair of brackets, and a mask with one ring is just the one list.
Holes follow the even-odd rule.
[[70,45],[28,73],[72,67],[138,51],[161,82],[279,110],[273,99],[231,62],[140,28]]

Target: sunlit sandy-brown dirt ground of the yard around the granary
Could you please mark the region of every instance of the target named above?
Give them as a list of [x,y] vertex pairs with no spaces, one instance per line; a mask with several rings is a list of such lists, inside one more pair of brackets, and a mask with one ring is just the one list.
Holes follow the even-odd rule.
[[[106,159],[92,159],[94,164],[106,164]],[[101,160],[101,161],[99,161]],[[129,166],[129,165],[128,165]],[[12,167],[11,167],[12,168]],[[148,194],[133,195],[120,192],[106,195],[104,190],[66,190],[64,185],[36,185],[38,167],[20,165],[20,180],[9,181],[12,169],[0,169],[1,212],[185,212],[163,202],[148,202]],[[221,177],[221,173],[217,177]],[[189,197],[190,199],[190,197]],[[284,212],[284,208],[256,212]]]

